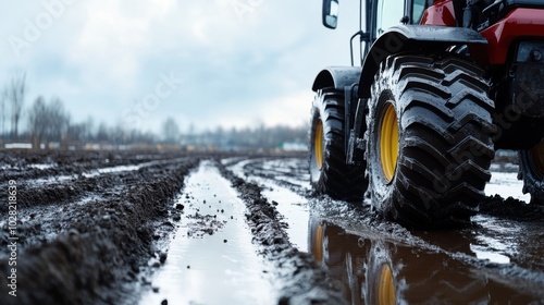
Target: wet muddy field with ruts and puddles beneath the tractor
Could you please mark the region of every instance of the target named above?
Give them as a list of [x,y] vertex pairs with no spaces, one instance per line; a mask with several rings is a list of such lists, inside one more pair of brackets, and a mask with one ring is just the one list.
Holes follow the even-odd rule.
[[498,158],[469,228],[408,231],[306,154],[0,151],[0,304],[541,304],[544,208]]

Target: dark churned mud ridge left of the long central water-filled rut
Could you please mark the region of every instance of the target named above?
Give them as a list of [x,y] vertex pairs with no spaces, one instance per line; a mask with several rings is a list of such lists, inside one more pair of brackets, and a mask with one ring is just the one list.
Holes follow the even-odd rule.
[[[168,218],[169,209],[173,209],[172,199],[182,188],[185,176],[198,163],[199,158],[191,158],[152,170],[132,171],[129,176],[119,174],[121,181],[116,183],[124,183],[126,187],[118,193],[108,185],[100,186],[101,183],[89,185],[100,178],[85,180],[83,184],[94,193],[110,194],[97,203],[64,205],[63,212],[73,215],[73,218],[62,232],[53,232],[58,235],[52,241],[22,246],[16,266],[17,297],[2,293],[0,304],[128,302],[134,297],[140,267],[153,256],[154,221]],[[53,202],[55,195],[52,196],[52,200],[45,199]],[[60,192],[57,198],[63,200],[63,193]],[[21,206],[21,216],[25,207]],[[40,227],[35,227],[32,229],[20,220],[17,234],[42,234]],[[5,242],[3,236],[2,245]],[[7,286],[7,258],[0,260],[0,266],[5,266],[0,270],[0,285]]]

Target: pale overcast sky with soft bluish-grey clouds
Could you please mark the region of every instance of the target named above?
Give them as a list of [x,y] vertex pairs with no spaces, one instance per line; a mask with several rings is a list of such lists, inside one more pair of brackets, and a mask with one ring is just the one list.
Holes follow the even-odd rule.
[[331,30],[316,0],[4,1],[0,85],[25,71],[26,109],[59,97],[73,122],[300,125],[317,73],[349,64],[351,2]]

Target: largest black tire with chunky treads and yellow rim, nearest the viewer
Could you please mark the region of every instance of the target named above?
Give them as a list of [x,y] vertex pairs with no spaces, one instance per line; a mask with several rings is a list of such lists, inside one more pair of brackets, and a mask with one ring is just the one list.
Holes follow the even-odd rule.
[[379,211],[409,228],[470,221],[495,156],[487,91],[483,72],[457,57],[392,56],[381,63],[364,136]]

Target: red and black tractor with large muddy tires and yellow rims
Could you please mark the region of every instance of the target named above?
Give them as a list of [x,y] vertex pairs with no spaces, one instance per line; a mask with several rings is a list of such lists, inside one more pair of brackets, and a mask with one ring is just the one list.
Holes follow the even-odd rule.
[[[338,0],[322,4],[323,25],[336,28]],[[542,203],[544,1],[359,5],[351,65],[325,68],[312,85],[313,190],[370,198],[407,228],[466,225],[485,198],[495,151],[510,149],[523,193]]]

